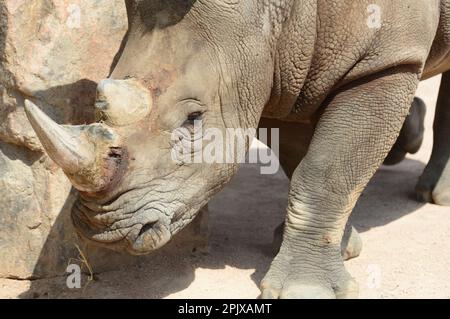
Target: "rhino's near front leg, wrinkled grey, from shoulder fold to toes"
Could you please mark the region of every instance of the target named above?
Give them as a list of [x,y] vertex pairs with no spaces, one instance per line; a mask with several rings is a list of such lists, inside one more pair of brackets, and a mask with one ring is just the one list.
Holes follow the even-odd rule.
[[418,76],[391,69],[327,101],[308,153],[295,170],[280,252],[263,298],[356,297],[341,240],[356,200],[394,144]]

